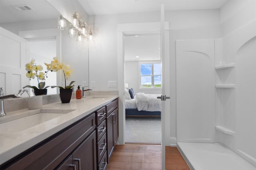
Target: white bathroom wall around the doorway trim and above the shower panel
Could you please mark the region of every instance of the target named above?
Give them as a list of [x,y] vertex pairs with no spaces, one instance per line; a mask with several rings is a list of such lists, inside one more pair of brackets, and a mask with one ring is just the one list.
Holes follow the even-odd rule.
[[[170,144],[176,145],[175,40],[220,38],[220,10],[167,11],[165,18],[170,22],[171,91],[171,110],[167,113],[170,114],[170,128],[166,129],[166,138]],[[160,12],[89,16],[89,24],[94,24],[94,43],[90,44],[90,81],[96,81],[95,90],[118,90],[107,87],[108,80],[118,78],[117,24],[159,21]]]

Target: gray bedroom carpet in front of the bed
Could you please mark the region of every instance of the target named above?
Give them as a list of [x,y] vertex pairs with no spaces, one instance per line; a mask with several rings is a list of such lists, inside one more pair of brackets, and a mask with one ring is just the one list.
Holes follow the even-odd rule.
[[161,117],[126,117],[126,143],[161,143]]

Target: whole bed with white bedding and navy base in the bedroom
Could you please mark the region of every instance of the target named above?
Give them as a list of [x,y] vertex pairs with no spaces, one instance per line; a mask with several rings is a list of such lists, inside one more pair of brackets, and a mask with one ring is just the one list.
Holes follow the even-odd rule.
[[125,100],[126,116],[161,116],[159,94],[137,93],[133,99]]

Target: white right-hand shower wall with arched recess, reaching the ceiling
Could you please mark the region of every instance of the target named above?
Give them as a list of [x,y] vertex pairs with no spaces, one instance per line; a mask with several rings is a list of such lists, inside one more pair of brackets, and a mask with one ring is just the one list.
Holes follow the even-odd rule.
[[[216,124],[232,133],[216,132],[224,143],[256,166],[256,1],[230,0],[220,10],[223,38],[219,61],[235,63],[220,78],[234,89],[216,92]],[[222,80],[223,82],[225,80]],[[228,82],[226,81],[226,82]],[[224,131],[225,132],[225,131]]]

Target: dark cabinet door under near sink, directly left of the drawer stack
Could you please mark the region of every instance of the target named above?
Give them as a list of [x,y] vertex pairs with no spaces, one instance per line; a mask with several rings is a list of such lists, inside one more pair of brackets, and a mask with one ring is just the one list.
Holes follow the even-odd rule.
[[95,131],[73,152],[73,164],[78,170],[97,169]]

